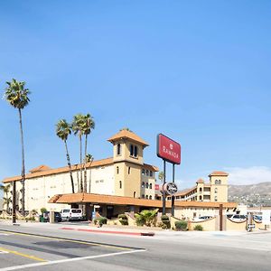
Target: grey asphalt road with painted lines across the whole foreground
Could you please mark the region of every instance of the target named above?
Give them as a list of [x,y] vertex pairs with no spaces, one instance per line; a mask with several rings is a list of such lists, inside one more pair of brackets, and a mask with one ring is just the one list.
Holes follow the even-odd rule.
[[23,268],[269,271],[271,233],[162,232],[139,237],[0,224],[0,270]]

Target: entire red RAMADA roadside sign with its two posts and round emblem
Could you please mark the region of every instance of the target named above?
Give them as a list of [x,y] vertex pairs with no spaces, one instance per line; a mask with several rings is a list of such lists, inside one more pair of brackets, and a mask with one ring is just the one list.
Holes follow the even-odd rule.
[[174,193],[177,192],[177,186],[175,182],[175,164],[181,164],[181,145],[175,142],[173,139],[166,135],[157,135],[157,156],[162,158],[164,161],[164,182],[163,182],[163,215],[165,214],[165,164],[169,162],[173,164],[173,185],[169,189],[173,193],[172,195],[172,215],[174,215]]

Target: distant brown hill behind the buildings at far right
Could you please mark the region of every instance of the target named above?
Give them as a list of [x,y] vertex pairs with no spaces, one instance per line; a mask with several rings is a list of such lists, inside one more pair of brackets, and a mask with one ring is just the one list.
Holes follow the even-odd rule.
[[230,197],[244,197],[249,195],[270,195],[271,196],[271,182],[260,182],[249,185],[229,185]]

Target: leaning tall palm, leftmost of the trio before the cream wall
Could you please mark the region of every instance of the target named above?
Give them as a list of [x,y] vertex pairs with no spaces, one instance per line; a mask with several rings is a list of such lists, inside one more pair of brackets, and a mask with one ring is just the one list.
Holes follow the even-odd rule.
[[72,190],[72,193],[74,193],[74,182],[73,182],[72,171],[71,171],[70,154],[69,154],[68,145],[67,145],[67,139],[70,134],[71,134],[70,124],[66,121],[66,119],[59,120],[59,122],[56,125],[56,135],[58,135],[61,138],[61,140],[64,141],[67,163],[70,170],[71,190]]

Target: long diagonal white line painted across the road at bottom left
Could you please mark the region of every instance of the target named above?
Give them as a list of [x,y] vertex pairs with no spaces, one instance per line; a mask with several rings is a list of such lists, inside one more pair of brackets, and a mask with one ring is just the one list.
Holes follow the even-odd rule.
[[117,255],[131,254],[131,253],[144,252],[144,251],[146,251],[146,250],[145,249],[137,249],[137,250],[115,252],[115,253],[107,253],[107,254],[96,255],[96,256],[72,257],[72,258],[66,258],[66,259],[49,261],[49,262],[42,262],[42,263],[35,263],[35,264],[29,264],[29,265],[23,265],[23,266],[10,266],[10,267],[5,267],[5,268],[0,268],[0,270],[1,271],[10,271],[10,270],[25,269],[25,268],[36,267],[36,266],[49,266],[49,265],[55,265],[55,264],[81,261],[84,259],[92,259],[92,258],[98,258],[98,257],[112,257],[112,256],[117,256]]

